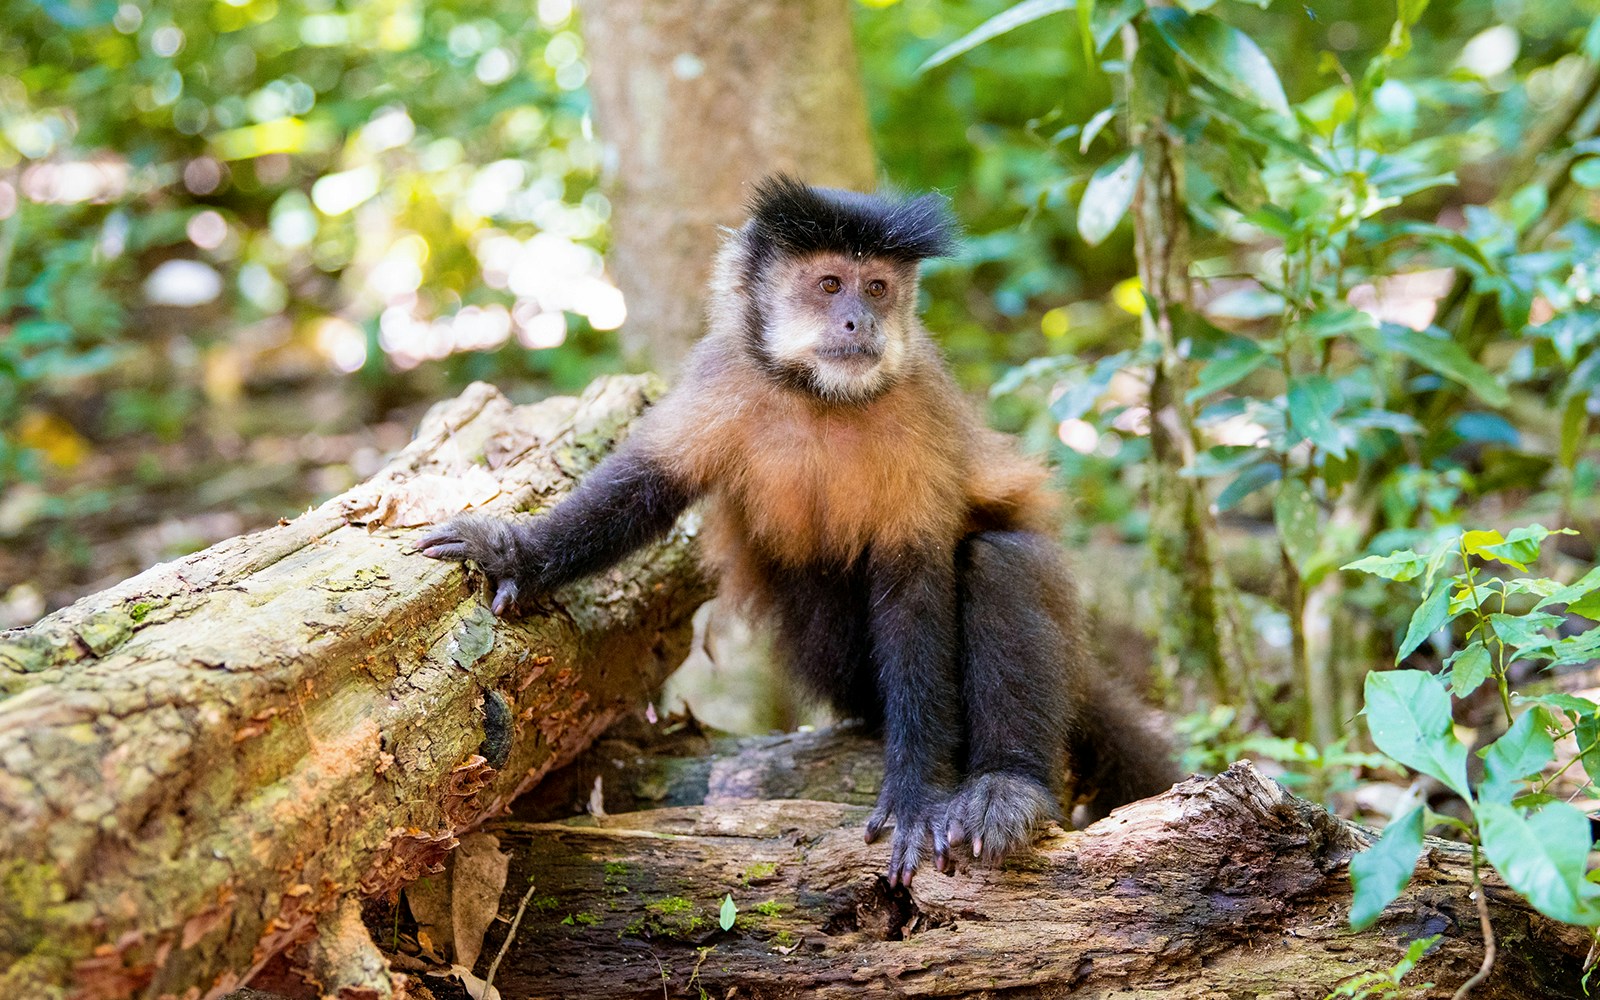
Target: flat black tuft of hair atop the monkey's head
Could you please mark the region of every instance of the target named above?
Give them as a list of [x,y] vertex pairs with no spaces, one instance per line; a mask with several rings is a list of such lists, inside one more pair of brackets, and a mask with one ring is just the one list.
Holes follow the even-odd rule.
[[763,256],[773,250],[787,256],[843,253],[906,264],[954,253],[958,237],[949,205],[936,194],[866,195],[811,187],[789,174],[755,186],[750,226]]

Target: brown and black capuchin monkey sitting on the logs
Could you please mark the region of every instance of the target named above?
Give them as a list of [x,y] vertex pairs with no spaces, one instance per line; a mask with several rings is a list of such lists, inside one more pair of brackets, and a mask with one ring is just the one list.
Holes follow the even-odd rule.
[[866,837],[893,818],[893,885],[998,862],[1062,797],[1099,816],[1176,778],[1128,678],[1090,662],[1045,467],[982,427],[917,318],[918,264],[955,238],[938,195],[763,181],[717,254],[710,331],[626,443],[542,517],[416,542],[475,562],[506,614],[702,502],[720,594],[882,730]]

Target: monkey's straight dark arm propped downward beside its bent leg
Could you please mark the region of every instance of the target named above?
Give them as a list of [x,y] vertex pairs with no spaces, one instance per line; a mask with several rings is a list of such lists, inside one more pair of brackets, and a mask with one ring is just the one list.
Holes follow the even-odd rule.
[[890,814],[890,885],[910,877],[933,846],[944,869],[942,810],[962,750],[955,661],[955,554],[946,547],[875,552],[869,565],[872,659],[883,696],[883,790],[867,819],[875,840]]

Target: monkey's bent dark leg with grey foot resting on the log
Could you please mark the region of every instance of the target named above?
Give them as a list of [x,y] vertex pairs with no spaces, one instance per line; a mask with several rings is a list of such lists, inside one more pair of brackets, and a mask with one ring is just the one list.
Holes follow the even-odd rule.
[[949,835],[998,862],[1059,818],[1080,613],[1054,544],[1030,531],[970,536],[958,573],[968,757]]

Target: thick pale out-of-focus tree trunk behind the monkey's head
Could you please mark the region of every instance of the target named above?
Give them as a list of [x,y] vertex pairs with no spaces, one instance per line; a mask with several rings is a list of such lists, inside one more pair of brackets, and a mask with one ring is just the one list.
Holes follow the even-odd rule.
[[670,370],[699,336],[718,226],[773,171],[872,189],[850,0],[582,0],[611,166],[622,349]]

